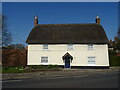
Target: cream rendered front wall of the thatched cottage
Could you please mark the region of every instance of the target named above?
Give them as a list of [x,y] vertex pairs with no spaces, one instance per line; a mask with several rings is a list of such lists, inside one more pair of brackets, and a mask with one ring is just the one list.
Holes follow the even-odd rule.
[[71,66],[91,66],[88,57],[95,57],[95,66],[109,66],[107,44],[93,45],[88,50],[87,44],[73,44],[73,50],[67,50],[67,44],[49,44],[48,50],[43,50],[42,44],[28,45],[28,65],[41,65],[41,57],[48,57],[48,64],[64,65],[62,56],[69,53],[73,56]]

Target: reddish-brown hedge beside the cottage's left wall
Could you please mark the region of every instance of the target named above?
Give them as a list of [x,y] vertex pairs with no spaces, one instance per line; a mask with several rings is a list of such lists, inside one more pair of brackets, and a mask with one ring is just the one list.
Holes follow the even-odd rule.
[[26,66],[27,51],[25,49],[3,49],[2,66]]

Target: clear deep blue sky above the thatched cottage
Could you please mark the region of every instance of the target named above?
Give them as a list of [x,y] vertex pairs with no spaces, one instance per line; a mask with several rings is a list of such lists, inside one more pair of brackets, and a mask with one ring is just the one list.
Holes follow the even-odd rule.
[[98,15],[108,39],[113,40],[118,31],[117,2],[3,2],[2,13],[14,44],[27,45],[34,16],[38,16],[39,24],[74,24],[95,23]]

